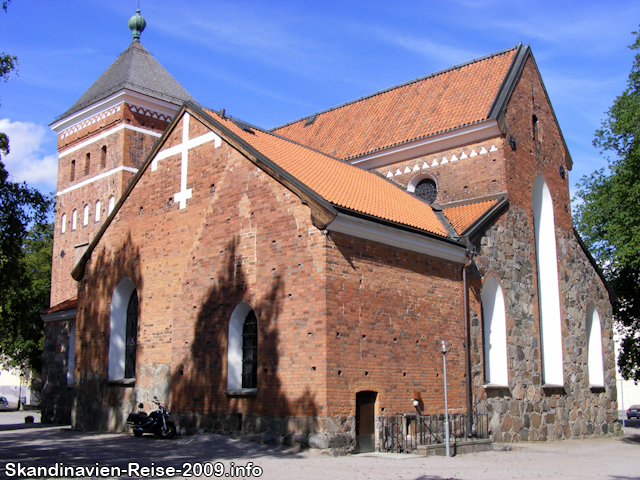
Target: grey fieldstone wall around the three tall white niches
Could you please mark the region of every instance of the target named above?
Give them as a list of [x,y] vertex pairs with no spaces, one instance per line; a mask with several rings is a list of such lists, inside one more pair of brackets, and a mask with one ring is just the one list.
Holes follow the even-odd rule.
[[[617,424],[612,309],[602,280],[573,231],[557,228],[562,314],[564,388],[542,385],[533,225],[510,205],[476,247],[476,286],[487,275],[499,278],[507,314],[509,385],[484,385],[482,320],[470,312],[474,403],[490,419],[494,441],[545,441],[611,435]],[[479,292],[478,292],[479,297]],[[586,312],[593,302],[600,315],[605,387],[591,388],[588,375]]]

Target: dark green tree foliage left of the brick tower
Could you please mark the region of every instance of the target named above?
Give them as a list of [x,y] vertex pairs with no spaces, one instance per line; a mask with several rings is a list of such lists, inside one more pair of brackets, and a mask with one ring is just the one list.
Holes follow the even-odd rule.
[[12,182],[0,160],[0,360],[41,368],[42,320],[49,305],[52,200]]

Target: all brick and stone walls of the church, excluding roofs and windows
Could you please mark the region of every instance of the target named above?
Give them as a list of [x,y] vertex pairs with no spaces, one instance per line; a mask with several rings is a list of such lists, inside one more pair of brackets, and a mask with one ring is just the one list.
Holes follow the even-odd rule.
[[[402,189],[434,179],[436,203],[445,206],[498,195],[508,199],[469,239],[476,255],[467,270],[472,410],[488,415],[493,439],[615,434],[609,293],[572,229],[571,159],[533,57],[523,64],[501,115],[500,135],[376,171]],[[62,151],[71,152],[60,159],[59,191],[116,165],[145,168],[77,284],[74,425],[123,430],[134,406],[143,402],[148,408],[157,396],[169,403],[185,433],[242,431],[263,441],[352,450],[358,392],[376,393],[376,415],[414,413],[415,399],[420,412],[442,413],[442,340],[453,346],[447,357],[449,408],[464,413],[463,264],[317,228],[301,197],[229,137],[164,155],[177,152],[185,139],[211,134],[190,118],[188,135],[182,118],[171,124],[149,165],[143,160],[157,137],[140,129],[160,133],[163,120],[125,104],[103,123],[59,140]],[[99,167],[103,146],[108,158]],[[558,253],[565,385],[556,388],[545,388],[542,378],[532,209],[538,175],[551,192]],[[133,176],[125,169],[59,196],[52,303],[75,294],[75,282],[64,275],[75,264],[76,245],[98,231],[100,223],[92,222],[95,201],[101,201],[103,221],[108,197],[119,198]],[[90,218],[83,227],[85,204]],[[76,230],[69,223],[60,233],[61,215],[70,222],[73,209]],[[451,241],[460,246],[466,240]],[[497,278],[505,300],[508,385],[499,388],[485,383],[484,372],[481,292],[489,276]],[[131,382],[109,380],[110,312],[124,278],[139,298]],[[258,321],[258,382],[257,393],[238,395],[227,391],[227,351],[230,318],[242,302]],[[602,323],[601,388],[592,388],[588,379],[590,304]]]

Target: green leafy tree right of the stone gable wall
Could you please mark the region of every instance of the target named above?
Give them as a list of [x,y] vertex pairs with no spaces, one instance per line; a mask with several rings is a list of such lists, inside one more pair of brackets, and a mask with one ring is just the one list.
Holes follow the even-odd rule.
[[[633,32],[632,50],[640,50]],[[576,228],[616,292],[614,316],[621,335],[620,373],[640,381],[640,53],[627,88],[596,132],[594,146],[611,152],[608,167],[578,183]]]

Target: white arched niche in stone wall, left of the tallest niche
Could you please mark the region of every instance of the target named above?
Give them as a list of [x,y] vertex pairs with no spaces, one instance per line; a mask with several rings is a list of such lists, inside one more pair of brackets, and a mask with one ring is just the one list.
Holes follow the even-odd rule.
[[507,321],[500,282],[493,275],[482,285],[482,333],[484,343],[484,381],[507,386]]

